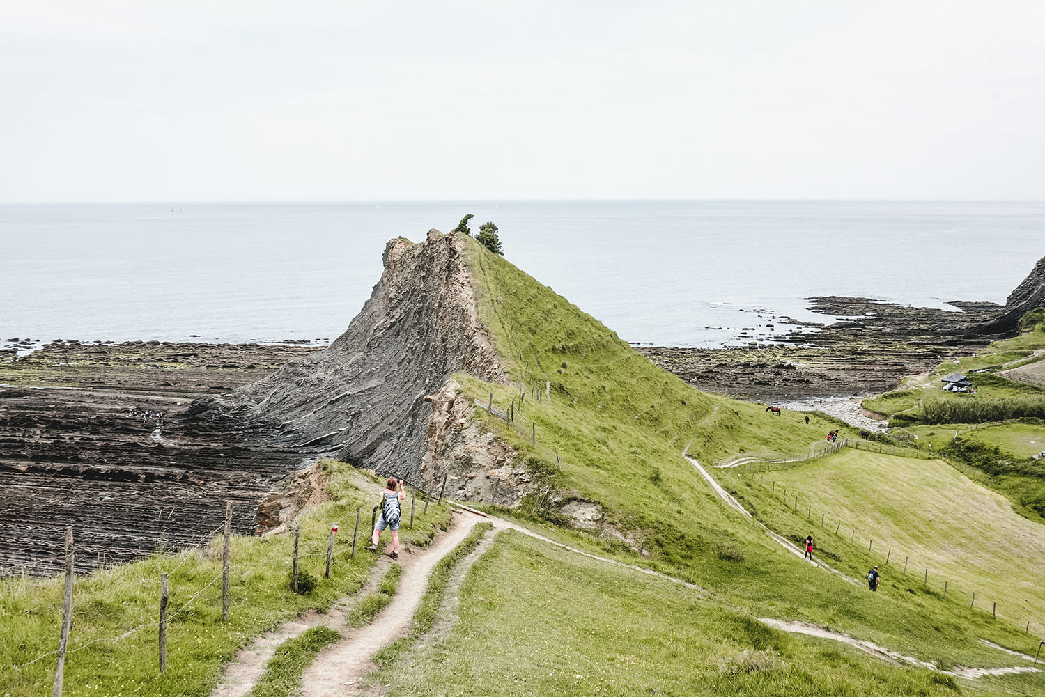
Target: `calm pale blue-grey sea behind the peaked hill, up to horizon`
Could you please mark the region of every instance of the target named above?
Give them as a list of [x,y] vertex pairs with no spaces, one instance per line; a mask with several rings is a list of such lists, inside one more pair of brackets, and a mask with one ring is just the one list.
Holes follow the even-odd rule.
[[814,295],[1004,302],[1045,256],[1045,203],[0,206],[0,341],[332,340],[369,297],[388,239],[423,239],[468,212],[622,339],[671,346],[822,319],[805,309]]

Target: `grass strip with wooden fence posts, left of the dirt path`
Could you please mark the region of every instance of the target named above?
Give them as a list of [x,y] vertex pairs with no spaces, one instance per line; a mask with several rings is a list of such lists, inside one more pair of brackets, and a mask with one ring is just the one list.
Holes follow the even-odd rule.
[[[332,501],[315,506],[301,522],[300,567],[320,579],[309,596],[287,585],[293,540],[289,535],[232,538],[229,623],[222,623],[219,541],[206,550],[156,556],[100,570],[76,580],[73,627],[65,667],[65,695],[207,695],[225,663],[252,636],[306,608],[328,607],[336,598],[358,590],[373,556],[348,558],[356,506],[364,516],[382,485],[348,465],[329,463],[327,489]],[[404,540],[424,543],[449,519],[445,505],[418,516]],[[324,580],[327,531],[340,520],[339,554],[329,581]],[[369,531],[361,519],[361,535]],[[345,537],[345,534],[348,537]],[[307,555],[307,556],[306,556]],[[167,671],[156,670],[157,628],[146,626],[118,642],[132,627],[156,621],[160,572],[170,572],[170,621],[167,628]],[[186,606],[187,603],[189,603]],[[186,609],[175,614],[177,610]],[[13,669],[57,647],[62,617],[61,579],[0,580],[0,694],[10,697],[50,694],[54,658]],[[86,647],[83,650],[77,650]]]

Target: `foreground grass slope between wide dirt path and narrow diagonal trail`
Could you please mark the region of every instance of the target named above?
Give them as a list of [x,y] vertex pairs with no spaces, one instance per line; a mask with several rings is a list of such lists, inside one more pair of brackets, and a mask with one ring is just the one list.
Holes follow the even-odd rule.
[[403,657],[389,694],[953,694],[945,676],[789,636],[635,577],[502,533],[466,578],[460,621]]

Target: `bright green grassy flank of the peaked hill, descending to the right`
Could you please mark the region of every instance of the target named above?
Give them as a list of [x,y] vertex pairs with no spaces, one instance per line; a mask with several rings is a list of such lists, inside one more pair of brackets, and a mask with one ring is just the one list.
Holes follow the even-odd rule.
[[[554,470],[557,446],[562,472],[556,484],[603,504],[609,509],[607,520],[644,537],[651,563],[713,588],[723,602],[759,617],[835,624],[915,655],[932,646],[947,660],[989,665],[998,656],[981,650],[977,637],[985,635],[1031,649],[1022,634],[1000,622],[984,626],[932,599],[872,597],[794,563],[754,526],[722,506],[680,457],[688,443],[690,452],[705,463],[743,451],[803,451],[834,422],[814,416],[807,427],[804,415],[769,417],[758,404],[697,392],[503,258],[474,243],[468,253],[481,319],[510,374],[530,387],[551,384],[551,400],[537,403],[527,397],[514,424],[482,410],[479,417],[538,472]],[[490,392],[504,405],[517,396],[513,387],[460,379],[466,392],[484,401]],[[536,447],[530,445],[531,422],[536,424]],[[719,555],[730,545],[743,551],[742,561]],[[942,624],[948,627],[946,641]]]

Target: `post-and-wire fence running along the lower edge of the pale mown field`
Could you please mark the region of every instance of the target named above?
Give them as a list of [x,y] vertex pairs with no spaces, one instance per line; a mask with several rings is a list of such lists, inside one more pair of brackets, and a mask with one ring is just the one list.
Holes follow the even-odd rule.
[[[832,518],[829,519],[827,517],[829,511],[825,511],[823,509],[814,509],[813,503],[810,502],[808,498],[803,497],[802,494],[800,494],[800,492],[798,492],[794,488],[791,488],[790,491],[792,493],[788,494],[789,489],[787,487],[784,487],[784,486],[777,486],[777,483],[774,480],[770,480],[769,482],[766,482],[765,481],[765,474],[767,474],[769,472],[766,472],[766,471],[753,471],[753,472],[751,472],[751,471],[741,470],[741,473],[742,473],[743,477],[749,478],[752,481],[752,485],[753,486],[759,486],[759,487],[768,489],[770,496],[772,496],[774,499],[780,501],[780,503],[784,506],[784,508],[788,509],[793,514],[800,515],[802,514],[802,509],[805,508],[806,509],[806,520],[812,522],[812,525],[818,525],[821,529],[827,530],[829,533],[832,533],[832,531],[831,531],[831,525],[830,524],[832,524],[832,522],[836,524],[835,525],[835,530],[833,531],[832,534],[834,534],[835,536],[837,536],[837,537],[841,538],[842,540],[844,540],[844,538],[846,537],[845,533],[849,532],[850,533],[849,534],[850,544],[854,545],[854,547],[857,547],[856,537],[857,537],[857,533],[859,531],[857,530],[857,528],[855,526],[852,526],[852,525],[847,524],[844,519],[842,519],[839,516],[835,516],[835,517],[832,517]],[[802,502],[800,506],[799,506],[799,501]],[[816,515],[815,515],[816,513],[820,513],[820,519],[819,520],[816,519]],[[844,528],[842,528],[843,524],[845,526]],[[799,540],[800,540],[800,538],[799,538]],[[861,535],[861,537],[860,537],[860,545],[857,548],[857,552],[859,552],[860,550],[863,549],[862,545],[863,545],[863,541],[864,540],[867,541],[867,550],[865,552],[863,552],[863,554],[864,554],[864,556],[866,556],[868,558],[868,561],[873,565],[874,565],[874,562],[875,562],[875,555],[877,554],[877,556],[880,558],[881,557],[881,550],[885,549],[887,551],[886,552],[886,557],[885,557],[885,561],[881,561],[880,562],[881,565],[883,565],[883,566],[889,565],[890,567],[895,566],[897,568],[900,567],[900,561],[899,561],[899,559],[900,559],[900,555],[903,554],[902,550],[899,550],[898,548],[888,547],[888,545],[875,548],[875,538],[874,537],[870,537],[868,535],[865,538],[865,537],[863,537]],[[882,542],[883,540],[881,538],[879,538],[878,541]],[[895,551],[897,552],[897,559],[892,559],[892,552],[895,552]],[[815,552],[814,552],[814,554],[815,554]],[[938,578],[936,576],[931,576],[930,577],[930,571],[931,570],[928,566],[923,566],[921,563],[918,563],[916,565],[911,565],[910,555],[904,555],[903,571],[901,573],[902,576],[906,577],[908,575],[907,574],[908,567],[910,567],[912,571],[924,570],[924,576],[923,576],[922,585],[923,585],[923,587],[925,587],[926,589],[930,590],[931,593],[934,593],[934,594],[938,595],[940,593],[940,590],[942,590],[943,591],[943,597],[945,599],[954,599],[954,600],[957,599],[956,597],[958,595],[965,595],[967,597],[967,599],[969,600],[969,603],[970,603],[969,608],[970,608],[970,610],[972,610],[972,609],[974,609],[976,607],[977,599],[979,599],[979,601],[981,603],[980,607],[983,608],[983,611],[989,612],[990,614],[992,614],[992,617],[994,617],[995,619],[997,619],[997,617],[999,614],[999,611],[998,611],[998,602],[995,601],[995,600],[988,599],[986,596],[983,595],[982,591],[980,594],[977,594],[975,589],[968,590],[968,591],[961,591],[961,590],[955,589],[954,586],[951,585],[951,581],[953,579],[940,579],[940,578]],[[930,583],[930,581],[932,581],[932,583],[935,584],[935,588]],[[943,582],[943,587],[942,588],[939,586],[940,582]],[[1006,601],[1006,602],[1008,602],[1008,601]],[[1025,614],[1022,618],[1020,618],[1020,617],[1017,617],[1016,614],[1014,614],[1013,612],[1007,611],[1007,608],[1006,608],[1005,611],[1002,611],[1001,614],[1003,617],[1008,618],[1011,621],[1017,622],[1017,624],[1023,623],[1024,624],[1024,632],[1025,633],[1029,633],[1031,627],[1039,627],[1039,628],[1041,628],[1041,631],[1043,633],[1045,633],[1045,622],[1036,621],[1036,620],[1034,620],[1034,617],[1032,617],[1034,612],[1040,611],[1040,610],[1036,610],[1034,608],[1034,604],[1029,600],[1023,599],[1023,603],[1028,606],[1026,608],[1028,614]]]

